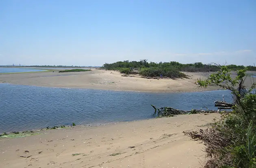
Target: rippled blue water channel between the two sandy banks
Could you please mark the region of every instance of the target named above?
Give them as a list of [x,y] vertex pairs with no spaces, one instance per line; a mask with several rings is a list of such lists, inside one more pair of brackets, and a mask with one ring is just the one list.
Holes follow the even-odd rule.
[[231,101],[229,91],[148,93],[65,89],[0,84],[0,132],[23,131],[54,125],[99,125],[150,119],[157,107],[182,110],[214,107],[215,100]]

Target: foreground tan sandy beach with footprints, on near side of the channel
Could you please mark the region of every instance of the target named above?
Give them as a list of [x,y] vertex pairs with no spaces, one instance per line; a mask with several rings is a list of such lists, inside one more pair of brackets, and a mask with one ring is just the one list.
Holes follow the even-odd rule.
[[204,145],[182,131],[206,128],[215,117],[220,115],[179,115],[0,138],[0,167],[199,168]]

